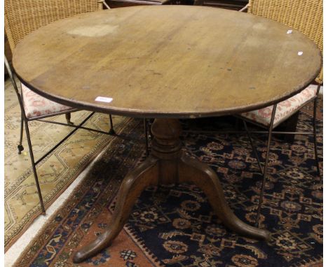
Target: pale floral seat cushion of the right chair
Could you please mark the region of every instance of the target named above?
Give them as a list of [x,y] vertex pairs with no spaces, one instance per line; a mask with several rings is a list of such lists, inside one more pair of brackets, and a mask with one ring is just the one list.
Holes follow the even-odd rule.
[[[306,89],[303,89],[303,91],[299,94],[296,94],[295,96],[292,96],[291,98],[278,103],[277,109],[275,110],[275,120],[273,121],[273,127],[287,119],[287,117],[292,115],[295,110],[298,110],[303,105],[303,103],[313,99],[316,93],[317,86],[310,85]],[[272,110],[273,106],[268,106],[259,110],[252,110],[247,113],[242,113],[242,117],[268,127],[270,125]]]

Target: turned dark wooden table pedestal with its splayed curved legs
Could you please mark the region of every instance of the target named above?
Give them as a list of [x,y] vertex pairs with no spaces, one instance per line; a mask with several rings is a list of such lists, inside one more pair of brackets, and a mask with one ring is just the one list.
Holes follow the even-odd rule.
[[124,178],[118,192],[110,228],[92,243],[78,250],[75,263],[93,257],[116,238],[128,220],[135,201],[151,185],[193,183],[203,190],[221,222],[242,236],[268,240],[270,233],[242,222],[228,207],[217,174],[197,159],[191,159],[181,150],[182,131],[177,119],[156,119],[152,126],[153,143],[150,156]]

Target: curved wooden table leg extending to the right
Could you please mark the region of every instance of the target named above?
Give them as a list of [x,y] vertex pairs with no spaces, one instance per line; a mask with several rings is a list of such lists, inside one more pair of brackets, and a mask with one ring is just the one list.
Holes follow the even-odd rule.
[[216,215],[231,231],[250,238],[270,240],[268,231],[245,224],[233,214],[226,203],[217,174],[207,164],[183,154],[179,161],[179,182],[189,182],[200,187]]

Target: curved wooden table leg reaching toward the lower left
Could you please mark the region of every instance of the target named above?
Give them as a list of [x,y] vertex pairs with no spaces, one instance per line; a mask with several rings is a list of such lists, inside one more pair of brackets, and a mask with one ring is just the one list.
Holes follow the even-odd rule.
[[109,223],[110,228],[102,235],[89,243],[74,254],[73,261],[78,263],[93,257],[95,254],[108,247],[118,233],[123,229],[128,220],[130,211],[135,201],[144,188],[150,185],[157,185],[158,180],[158,159],[149,157],[134,171],[125,176],[118,191],[118,197],[113,217]]

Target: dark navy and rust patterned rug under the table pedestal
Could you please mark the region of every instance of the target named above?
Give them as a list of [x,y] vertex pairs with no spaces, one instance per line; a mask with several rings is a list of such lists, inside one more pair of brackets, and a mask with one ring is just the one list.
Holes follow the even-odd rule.
[[[299,120],[299,129],[311,129],[308,110]],[[195,125],[210,125],[212,130],[233,127],[224,117],[196,124],[184,121],[184,129]],[[142,126],[133,134],[142,135]],[[263,159],[266,138],[255,139]],[[185,131],[183,142],[186,152],[217,171],[235,215],[253,224],[261,175],[247,136]],[[322,155],[322,137],[319,142]],[[297,136],[292,145],[273,138],[261,216],[261,226],[272,233],[271,242],[228,231],[197,187],[160,186],[142,193],[111,247],[72,264],[74,250],[107,228],[120,182],[144,159],[141,152],[139,144],[114,140],[15,266],[322,266],[322,178],[315,175],[310,136]]]

